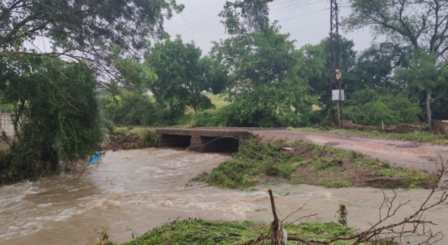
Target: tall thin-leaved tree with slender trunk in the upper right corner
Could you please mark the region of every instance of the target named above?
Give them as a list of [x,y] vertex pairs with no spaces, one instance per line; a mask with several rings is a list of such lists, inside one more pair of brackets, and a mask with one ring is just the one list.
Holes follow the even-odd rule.
[[[433,53],[434,62],[440,58],[448,63],[448,1],[350,0],[349,3],[352,11],[342,22],[345,29],[372,27],[377,36],[386,36],[414,52],[421,49]],[[430,123],[431,94],[426,91],[426,113]]]

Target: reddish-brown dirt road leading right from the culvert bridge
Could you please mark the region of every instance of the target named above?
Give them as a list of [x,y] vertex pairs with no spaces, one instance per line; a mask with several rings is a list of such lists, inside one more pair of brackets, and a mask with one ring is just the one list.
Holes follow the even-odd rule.
[[430,143],[414,143],[388,139],[372,139],[320,132],[297,132],[292,130],[251,130],[253,134],[262,134],[265,139],[286,138],[306,140],[320,145],[342,148],[364,153],[370,158],[378,158],[391,166],[419,169],[433,172],[435,161],[440,156],[448,162],[448,146]]

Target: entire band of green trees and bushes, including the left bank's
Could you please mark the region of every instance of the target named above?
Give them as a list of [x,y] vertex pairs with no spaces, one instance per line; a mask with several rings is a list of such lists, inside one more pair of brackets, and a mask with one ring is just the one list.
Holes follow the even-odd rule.
[[[15,137],[0,136],[1,181],[87,160],[102,141],[101,127],[113,124],[328,125],[337,113],[328,110],[329,39],[297,47],[269,20],[269,2],[226,2],[219,15],[229,38],[203,54],[163,30],[164,20],[183,10],[174,0],[1,1],[0,104],[12,111],[15,130]],[[342,26],[374,25],[386,41],[356,52],[340,36],[344,119],[447,119],[448,4],[349,4]],[[39,38],[50,50],[35,45]],[[96,94],[98,83],[108,93]],[[220,94],[226,105],[216,109],[206,93]]]

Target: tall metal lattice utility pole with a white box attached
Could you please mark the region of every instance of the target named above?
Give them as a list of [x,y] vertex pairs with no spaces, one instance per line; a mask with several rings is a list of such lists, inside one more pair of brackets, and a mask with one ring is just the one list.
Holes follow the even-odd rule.
[[[338,122],[342,118],[342,87],[341,87],[341,47],[339,43],[339,7],[337,0],[330,0],[330,127],[332,126],[332,90],[339,89],[337,101]],[[333,80],[336,79],[336,83]]]

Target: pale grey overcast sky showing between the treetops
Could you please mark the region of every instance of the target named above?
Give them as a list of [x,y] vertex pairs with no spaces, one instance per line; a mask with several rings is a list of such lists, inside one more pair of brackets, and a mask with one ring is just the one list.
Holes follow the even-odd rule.
[[[346,6],[346,0],[339,0],[339,6]],[[175,38],[181,34],[183,41],[195,41],[205,55],[211,48],[211,41],[226,38],[218,13],[223,10],[225,0],[177,0],[185,9],[165,23],[165,30]],[[330,31],[330,0],[275,0],[269,4],[269,18],[279,20],[282,33],[290,33],[297,48],[307,43],[319,43]],[[340,8],[339,20],[349,15],[349,8]],[[363,50],[371,44],[372,36],[367,29],[345,34],[339,33],[355,43],[355,50]]]

